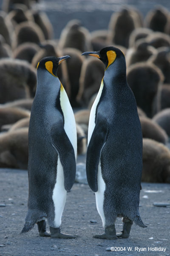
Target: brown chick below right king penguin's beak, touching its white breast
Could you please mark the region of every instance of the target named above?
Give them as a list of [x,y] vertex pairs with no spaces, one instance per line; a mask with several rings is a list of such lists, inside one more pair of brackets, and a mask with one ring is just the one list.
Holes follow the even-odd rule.
[[97,58],[88,57],[83,61],[79,79],[77,101],[80,105],[88,106],[91,96],[98,92],[105,66]]

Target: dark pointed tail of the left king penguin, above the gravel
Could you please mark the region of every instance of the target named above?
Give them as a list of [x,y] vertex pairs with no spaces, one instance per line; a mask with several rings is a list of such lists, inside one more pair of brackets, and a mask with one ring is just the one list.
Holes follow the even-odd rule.
[[45,220],[45,217],[45,214],[40,214],[38,211],[28,209],[24,227],[20,234],[29,232],[37,222]]

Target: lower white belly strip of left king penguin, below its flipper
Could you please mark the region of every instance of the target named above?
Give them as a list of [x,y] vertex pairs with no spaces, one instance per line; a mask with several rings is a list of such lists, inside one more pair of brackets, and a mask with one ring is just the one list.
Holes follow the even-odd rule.
[[57,179],[56,179],[56,184],[54,186],[53,197],[52,197],[54,202],[54,209],[55,209],[54,224],[56,228],[61,225],[61,217],[62,217],[62,212],[65,206],[66,195],[67,195],[67,191],[64,188],[64,173],[63,173],[62,165],[58,156]]

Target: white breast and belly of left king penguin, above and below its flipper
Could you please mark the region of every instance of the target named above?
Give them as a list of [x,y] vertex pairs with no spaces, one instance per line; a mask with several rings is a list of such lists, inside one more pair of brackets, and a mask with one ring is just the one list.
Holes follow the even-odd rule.
[[[74,148],[74,154],[76,159],[77,157],[76,122],[75,122],[74,113],[71,108],[67,93],[65,92],[62,86],[60,90],[60,105],[62,108],[62,113],[64,115],[64,129]],[[53,190],[53,201],[54,201],[54,209],[55,209],[54,224],[56,225],[56,228],[61,225],[61,217],[62,217],[62,212],[65,206],[66,195],[67,195],[67,192],[64,188],[63,168],[58,156],[57,180]]]

